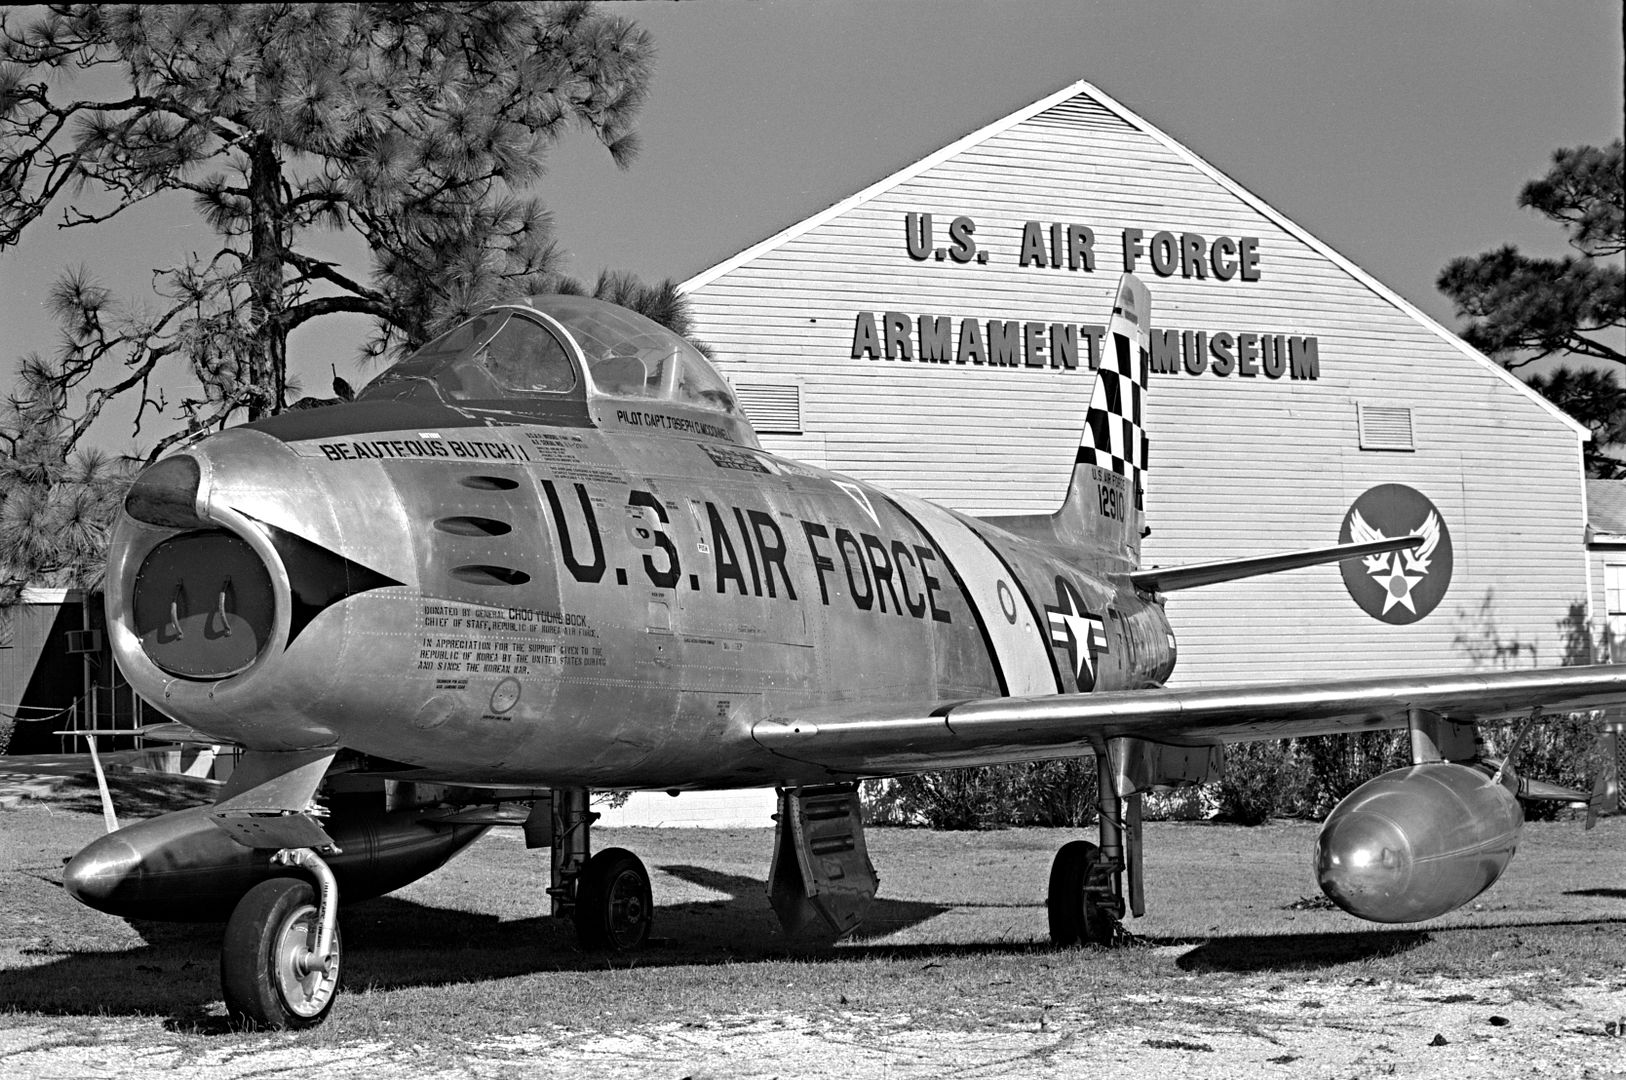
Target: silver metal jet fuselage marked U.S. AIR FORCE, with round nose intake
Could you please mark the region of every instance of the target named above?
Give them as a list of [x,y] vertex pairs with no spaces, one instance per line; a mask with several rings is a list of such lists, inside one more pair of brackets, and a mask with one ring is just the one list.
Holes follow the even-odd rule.
[[250,748],[678,789],[829,776],[761,748],[761,721],[1172,668],[1127,566],[763,452],[720,392],[615,394],[567,320],[512,317],[566,342],[574,392],[398,379],[143,473],[109,566],[138,693]]

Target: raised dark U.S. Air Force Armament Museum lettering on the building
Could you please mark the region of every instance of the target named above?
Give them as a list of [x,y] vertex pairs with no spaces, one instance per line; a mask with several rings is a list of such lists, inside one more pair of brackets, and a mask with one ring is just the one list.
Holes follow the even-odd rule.
[[[904,249],[915,262],[989,265],[995,255],[977,244],[976,234],[977,223],[961,215],[948,223],[938,244],[930,213],[904,215]],[[1148,237],[1145,229],[1127,228],[1117,250],[1127,272],[1150,265],[1164,278],[1260,280],[1257,236],[1163,229]],[[1018,267],[1093,273],[1096,262],[1098,236],[1088,224],[1023,223]],[[1106,327],[1098,324],[860,311],[852,327],[852,358],[1067,371],[1083,364],[1094,371],[1104,335]],[[1151,372],[1319,379],[1320,351],[1314,337],[1296,333],[1154,329]]]

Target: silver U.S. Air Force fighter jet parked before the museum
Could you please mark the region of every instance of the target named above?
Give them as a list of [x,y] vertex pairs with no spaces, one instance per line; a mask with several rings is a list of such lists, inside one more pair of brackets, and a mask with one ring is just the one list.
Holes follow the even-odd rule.
[[418,878],[491,825],[551,849],[554,914],[649,937],[642,862],[590,846],[592,789],[779,787],[771,901],[852,930],[875,895],[857,781],[1093,756],[1096,843],[1057,852],[1057,943],[1145,909],[1140,799],[1216,776],[1228,742],[1410,727],[1415,764],[1327,820],[1317,875],[1384,922],[1496,880],[1519,779],[1475,722],[1626,701],[1626,668],[1169,690],[1163,594],[1424,537],[1140,568],[1145,286],[1050,516],[982,520],[761,449],[678,335],[592,299],[470,319],[354,402],[200,438],[117,527],[119,664],[169,717],[244,748],[211,807],[67,867],[122,916],[224,919],[229,1012],[319,1023],[338,903]]

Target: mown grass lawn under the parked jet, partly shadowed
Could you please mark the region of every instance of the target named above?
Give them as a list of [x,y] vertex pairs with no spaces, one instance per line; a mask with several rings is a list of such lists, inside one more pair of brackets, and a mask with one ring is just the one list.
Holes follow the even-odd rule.
[[[62,862],[101,831],[94,797],[0,812],[0,1013],[83,1025],[148,1017],[224,1030],[220,925],[125,922],[76,904]],[[943,1030],[1029,1023],[1055,1002],[1104,1017],[1193,984],[1294,987],[1530,973],[1533,992],[1626,971],[1626,820],[1592,833],[1528,825],[1502,880],[1468,908],[1406,927],[1327,909],[1315,825],[1146,826],[1148,911],[1119,950],[1046,945],[1044,888],[1078,833],[875,828],[880,898],[834,947],[787,942],[766,901],[772,830],[600,830],[654,873],[655,943],[582,953],[546,917],[548,857],[493,831],[439,872],[343,908],[345,989],[301,1041],[450,1046],[538,1026],[704,1021],[790,1010],[907,1013]],[[1088,833],[1085,834],[1089,836]],[[5,1020],[0,1018],[0,1025]]]

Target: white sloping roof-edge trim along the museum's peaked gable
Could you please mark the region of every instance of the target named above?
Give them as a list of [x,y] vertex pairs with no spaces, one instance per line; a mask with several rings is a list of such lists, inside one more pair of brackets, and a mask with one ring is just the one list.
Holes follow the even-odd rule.
[[1187,164],[1190,164],[1192,168],[1198,169],[1200,172],[1203,172],[1205,176],[1208,176],[1211,181],[1215,181],[1216,184],[1220,184],[1221,187],[1224,187],[1228,192],[1231,192],[1234,197],[1237,197],[1239,200],[1242,200],[1244,203],[1247,203],[1249,207],[1252,207],[1255,211],[1259,211],[1260,215],[1263,215],[1265,218],[1268,218],[1270,221],[1273,221],[1283,231],[1289,233],[1291,236],[1294,236],[1296,239],[1299,239],[1301,242],[1304,242],[1307,247],[1314,249],[1317,254],[1320,254],[1328,262],[1332,262],[1333,265],[1337,265],[1338,268],[1341,268],[1345,273],[1348,273],[1353,280],[1356,280],[1363,286],[1366,286],[1371,293],[1374,293],[1376,296],[1382,298],[1385,303],[1392,304],[1402,314],[1408,316],[1410,319],[1413,319],[1415,322],[1418,322],[1421,327],[1424,327],[1429,333],[1433,333],[1437,338],[1441,338],[1446,345],[1449,345],[1455,351],[1462,353],[1465,358],[1472,359],[1473,363],[1481,364],[1483,368],[1486,368],[1491,372],[1494,372],[1499,379],[1502,379],[1511,387],[1517,389],[1520,394],[1524,394],[1530,402],[1533,402],[1537,407],[1540,407],[1551,418],[1554,418],[1554,420],[1561,421],[1564,426],[1567,426],[1579,439],[1587,441],[1587,439],[1592,438],[1592,433],[1585,428],[1585,425],[1576,421],[1567,413],[1564,413],[1561,408],[1558,408],[1556,405],[1553,405],[1551,402],[1548,402],[1545,397],[1541,397],[1540,394],[1537,394],[1535,390],[1532,390],[1528,385],[1524,384],[1524,381],[1520,381],[1517,376],[1514,376],[1512,372],[1509,372],[1506,368],[1502,368],[1501,364],[1498,364],[1496,361],[1493,361],[1489,356],[1486,356],[1480,350],[1476,350],[1472,345],[1468,345],[1467,342],[1463,342],[1460,337],[1457,337],[1455,333],[1452,333],[1449,329],[1446,329],[1441,324],[1434,322],[1434,319],[1431,319],[1428,314],[1424,314],[1419,307],[1416,307],[1408,299],[1405,299],[1403,296],[1400,296],[1398,293],[1395,293],[1393,290],[1390,290],[1389,286],[1385,286],[1382,281],[1379,281],[1372,275],[1369,275],[1364,270],[1361,270],[1361,267],[1354,265],[1346,257],[1340,255],[1337,250],[1333,250],[1332,247],[1328,247],[1322,241],[1319,241],[1314,236],[1311,236],[1311,233],[1307,233],[1304,228],[1301,228],[1299,224],[1296,224],[1294,221],[1291,221],[1289,218],[1286,218],[1281,211],[1275,210],[1263,198],[1254,195],[1246,187],[1242,187],[1241,184],[1237,184],[1236,181],[1233,181],[1229,176],[1226,176],[1224,172],[1221,172],[1220,169],[1216,169],[1213,164],[1210,164],[1208,161],[1205,161],[1203,158],[1200,158],[1198,155],[1195,155],[1193,151],[1190,151],[1189,148],[1185,148],[1184,145],[1180,145],[1179,142],[1176,142],[1174,138],[1171,138],[1169,135],[1166,135],[1164,132],[1158,130],[1154,125],[1151,125],[1150,122],[1146,122],[1140,115],[1130,112],[1122,104],[1119,104],[1111,96],[1107,96],[1106,93],[1102,93],[1101,89],[1098,89],[1096,86],[1093,86],[1091,83],[1088,83],[1085,80],[1080,80],[1080,81],[1076,81],[1076,83],[1073,83],[1070,86],[1065,86],[1065,88],[1055,91],[1054,94],[1041,98],[1039,101],[1034,101],[1033,104],[1024,106],[1024,107],[1018,109],[1016,112],[1011,112],[1010,115],[1006,115],[1006,117],[1003,117],[1000,120],[995,120],[995,122],[992,122],[992,124],[989,124],[989,125],[985,125],[982,128],[977,128],[976,132],[971,132],[969,135],[948,143],[941,150],[937,150],[937,151],[927,155],[925,158],[915,161],[914,164],[906,166],[906,168],[899,169],[898,172],[893,172],[891,176],[876,181],[875,184],[870,184],[863,190],[855,192],[854,195],[849,195],[847,198],[842,198],[841,202],[837,202],[837,203],[824,208],[824,210],[821,210],[820,213],[815,213],[810,218],[803,218],[802,221],[797,221],[795,224],[792,224],[792,226],[789,226],[785,229],[780,229],[779,233],[774,233],[767,239],[763,239],[763,241],[759,241],[756,244],[751,244],[745,250],[741,250],[741,252],[738,252],[738,254],[735,254],[735,255],[732,255],[728,259],[724,259],[722,262],[719,262],[719,263],[715,263],[712,267],[707,267],[706,270],[701,270],[694,277],[691,277],[686,281],[683,281],[681,285],[678,285],[678,290],[683,291],[683,293],[691,293],[691,291],[699,290],[699,288],[702,288],[706,285],[711,285],[717,278],[730,273],[732,270],[737,270],[737,268],[740,268],[740,267],[753,262],[754,259],[758,259],[758,257],[761,257],[761,255],[764,255],[767,252],[772,252],[777,247],[780,247],[780,246],[784,246],[784,244],[797,239],[798,236],[802,236],[802,234],[805,234],[805,233],[808,233],[808,231],[811,231],[811,229],[815,229],[815,228],[818,228],[818,226],[821,226],[821,224],[834,220],[834,218],[839,218],[841,215],[847,213],[849,210],[854,210],[855,207],[862,207],[863,203],[870,202],[876,195],[881,195],[881,194],[885,194],[885,192],[898,187],[899,184],[902,184],[906,181],[911,181],[915,176],[920,176],[922,172],[932,169],[933,166],[938,166],[943,161],[948,161],[950,158],[954,158],[956,155],[959,155],[959,153],[963,153],[963,151],[966,151],[966,150],[969,150],[969,148],[972,148],[972,146],[976,146],[976,145],[979,145],[979,143],[982,143],[982,142],[985,142],[985,140],[989,140],[989,138],[992,138],[995,135],[1000,135],[1000,133],[1003,133],[1003,132],[1016,127],[1018,124],[1021,124],[1024,120],[1029,120],[1029,119],[1039,115],[1041,112],[1046,112],[1046,111],[1054,109],[1057,106],[1063,106],[1065,102],[1070,102],[1073,99],[1081,99],[1080,104],[1093,106],[1096,109],[1102,109],[1104,107],[1109,112],[1115,114],[1120,120],[1124,120],[1130,127],[1133,127],[1133,128],[1140,130],[1141,133],[1145,133],[1145,135],[1154,138],[1156,142],[1163,143],[1177,158],[1184,159]]

